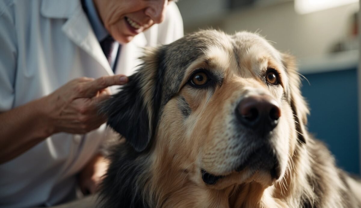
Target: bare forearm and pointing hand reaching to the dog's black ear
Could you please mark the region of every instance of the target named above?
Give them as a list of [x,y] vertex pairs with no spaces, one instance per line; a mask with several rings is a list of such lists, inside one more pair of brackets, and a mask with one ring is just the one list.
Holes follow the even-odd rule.
[[105,122],[98,105],[109,86],[128,82],[124,75],[74,79],[52,94],[0,112],[0,164],[57,132],[84,134]]

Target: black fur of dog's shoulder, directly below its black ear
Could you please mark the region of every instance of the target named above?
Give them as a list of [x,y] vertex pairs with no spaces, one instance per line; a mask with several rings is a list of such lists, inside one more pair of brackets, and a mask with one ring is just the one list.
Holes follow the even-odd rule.
[[122,143],[112,149],[109,157],[112,162],[101,184],[100,205],[104,208],[148,208],[142,190],[148,178],[144,154]]

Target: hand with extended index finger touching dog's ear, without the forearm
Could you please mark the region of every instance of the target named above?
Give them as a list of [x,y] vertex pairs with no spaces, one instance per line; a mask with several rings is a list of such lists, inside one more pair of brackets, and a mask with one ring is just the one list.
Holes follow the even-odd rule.
[[67,132],[84,134],[97,129],[106,120],[99,114],[98,104],[110,97],[108,87],[127,83],[125,75],[77,78],[51,95],[44,97],[44,108],[52,134]]

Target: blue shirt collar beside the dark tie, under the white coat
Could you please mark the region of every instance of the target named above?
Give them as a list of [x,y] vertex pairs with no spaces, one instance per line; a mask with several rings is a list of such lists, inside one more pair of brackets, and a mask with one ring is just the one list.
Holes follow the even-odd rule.
[[85,6],[87,9],[86,14],[93,28],[95,36],[98,39],[98,41],[101,42],[109,35],[109,32],[105,29],[103,23],[100,21],[93,0],[85,0],[84,3],[85,4],[83,6]]

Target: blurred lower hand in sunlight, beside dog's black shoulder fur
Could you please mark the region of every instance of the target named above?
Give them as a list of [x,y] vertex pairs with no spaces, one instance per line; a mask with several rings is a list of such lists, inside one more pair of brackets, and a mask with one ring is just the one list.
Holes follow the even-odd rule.
[[79,173],[79,187],[84,195],[95,194],[109,166],[109,160],[98,154]]

